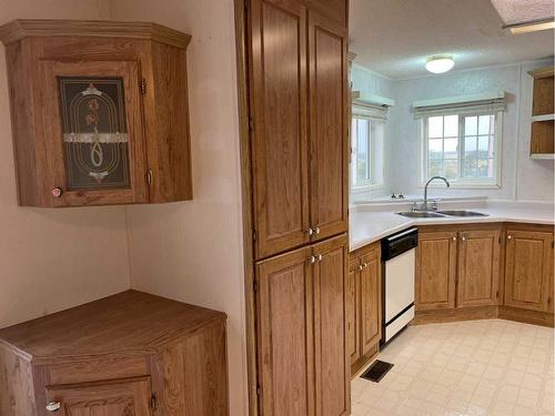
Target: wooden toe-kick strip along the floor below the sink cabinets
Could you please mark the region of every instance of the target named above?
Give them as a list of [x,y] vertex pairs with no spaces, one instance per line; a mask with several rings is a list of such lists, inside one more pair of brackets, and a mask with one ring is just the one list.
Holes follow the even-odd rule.
[[475,306],[451,310],[416,311],[411,325],[492,318],[554,327],[554,315],[552,313],[521,310],[509,306]]

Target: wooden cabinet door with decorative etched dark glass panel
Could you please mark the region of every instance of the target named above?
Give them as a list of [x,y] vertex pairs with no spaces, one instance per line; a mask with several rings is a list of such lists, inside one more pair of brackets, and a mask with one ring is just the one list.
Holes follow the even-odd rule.
[[44,61],[54,205],[148,200],[137,62]]

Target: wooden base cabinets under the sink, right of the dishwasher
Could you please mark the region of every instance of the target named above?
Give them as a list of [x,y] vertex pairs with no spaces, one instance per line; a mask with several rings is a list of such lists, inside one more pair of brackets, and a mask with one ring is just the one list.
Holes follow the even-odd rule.
[[553,226],[423,226],[415,323],[502,317],[553,326]]

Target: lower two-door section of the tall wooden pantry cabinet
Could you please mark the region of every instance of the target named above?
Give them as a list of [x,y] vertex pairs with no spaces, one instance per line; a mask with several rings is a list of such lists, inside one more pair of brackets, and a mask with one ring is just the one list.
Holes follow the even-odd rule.
[[346,416],[346,236],[256,266],[259,412]]

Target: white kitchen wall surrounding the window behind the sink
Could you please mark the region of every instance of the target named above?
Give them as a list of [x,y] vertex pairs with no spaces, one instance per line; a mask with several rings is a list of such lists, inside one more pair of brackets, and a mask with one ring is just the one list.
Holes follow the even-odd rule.
[[[408,80],[390,80],[389,91],[395,100],[390,110],[387,138],[387,185],[405,194],[422,194],[420,186],[418,121],[411,111],[418,100],[438,99],[504,90],[507,110],[503,116],[502,183],[500,189],[463,190],[437,187],[433,195],[487,195],[497,200],[553,201],[553,161],[535,161],[529,154],[529,114],[532,79],[527,71],[552,64],[544,60],[533,63],[454,71]],[[383,90],[383,81],[376,82],[375,73],[353,71],[355,85],[369,85],[371,93]],[[366,81],[360,80],[366,78]]]

